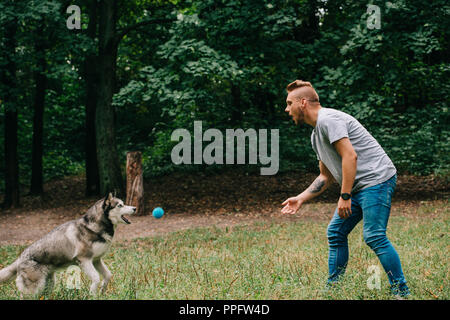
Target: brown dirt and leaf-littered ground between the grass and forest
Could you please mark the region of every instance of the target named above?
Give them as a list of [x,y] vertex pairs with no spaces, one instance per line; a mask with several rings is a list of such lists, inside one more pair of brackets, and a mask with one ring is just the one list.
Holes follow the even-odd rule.
[[[338,200],[337,185],[316,201],[305,204],[301,215],[280,214],[281,202],[304,190],[314,178],[314,174],[300,173],[277,176],[227,173],[174,174],[146,181],[147,215],[132,217],[131,225],[119,226],[115,240],[212,225],[233,227],[255,221],[329,220]],[[427,200],[448,199],[448,185],[434,177],[402,176],[398,181],[392,215],[414,214],[423,203],[427,205]],[[56,226],[80,218],[98,200],[84,196],[83,177],[50,182],[45,190],[43,198],[23,197],[21,208],[0,211],[0,245],[29,244]],[[166,211],[161,219],[151,216],[156,206]]]

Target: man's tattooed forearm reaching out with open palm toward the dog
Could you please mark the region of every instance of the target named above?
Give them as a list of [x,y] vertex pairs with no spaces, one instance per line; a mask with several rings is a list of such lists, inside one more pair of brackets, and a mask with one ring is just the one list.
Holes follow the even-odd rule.
[[287,199],[282,203],[284,208],[281,209],[281,213],[295,214],[304,202],[317,197],[329,187],[334,180],[333,176],[322,161],[319,161],[319,168],[320,175],[305,191],[296,197]]

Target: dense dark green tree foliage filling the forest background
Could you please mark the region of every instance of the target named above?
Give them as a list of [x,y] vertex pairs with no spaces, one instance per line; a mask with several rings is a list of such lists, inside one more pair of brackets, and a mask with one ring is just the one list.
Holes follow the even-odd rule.
[[[14,59],[20,88],[0,91],[16,92],[17,105],[9,107],[19,111],[24,184],[31,166],[38,36],[47,42],[50,79],[44,176],[84,166],[81,67],[95,40],[85,33],[85,3],[81,31],[65,27],[61,3],[0,3],[0,49],[6,25],[16,19],[19,26]],[[146,175],[200,170],[171,163],[170,137],[174,129],[192,130],[193,121],[202,120],[204,129],[278,128],[281,170],[317,170],[310,128],[294,127],[284,113],[286,84],[303,79],[313,83],[324,107],[355,116],[400,172],[448,174],[450,7],[443,0],[372,3],[381,10],[380,29],[367,28],[367,3],[348,0],[120,2],[120,29],[149,16],[178,17],[137,28],[121,42],[113,102],[121,159],[131,149],[143,151]],[[0,54],[0,67],[6,61]],[[0,132],[5,108],[0,103]]]

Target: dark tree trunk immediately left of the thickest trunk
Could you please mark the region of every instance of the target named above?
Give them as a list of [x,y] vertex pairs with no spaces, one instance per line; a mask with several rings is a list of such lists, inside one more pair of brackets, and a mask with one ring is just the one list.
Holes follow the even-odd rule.
[[[87,34],[92,41],[94,41],[97,35],[97,14],[97,1],[90,1]],[[97,164],[97,143],[95,135],[95,110],[97,109],[98,101],[98,71],[96,54],[90,54],[86,57],[84,64],[84,77],[86,79],[86,196],[95,196],[100,193],[100,181]]]

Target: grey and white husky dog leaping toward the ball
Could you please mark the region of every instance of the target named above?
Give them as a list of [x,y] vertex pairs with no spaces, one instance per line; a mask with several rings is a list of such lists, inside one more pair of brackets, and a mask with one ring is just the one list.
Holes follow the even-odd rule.
[[26,248],[16,261],[0,270],[0,282],[17,275],[16,285],[21,294],[38,295],[52,290],[55,271],[79,265],[92,281],[90,293],[97,294],[100,275],[104,291],[111,272],[102,256],[111,246],[115,227],[119,223],[130,224],[124,215],[135,212],[135,207],[124,205],[109,193],[80,219],[60,225]]

